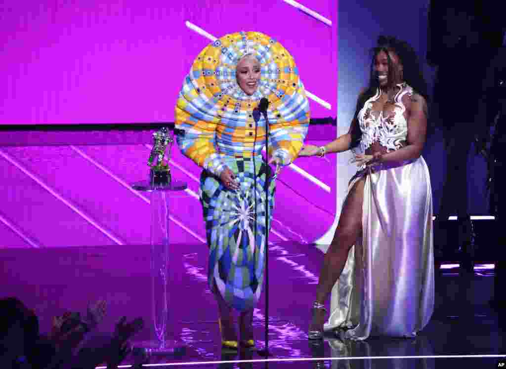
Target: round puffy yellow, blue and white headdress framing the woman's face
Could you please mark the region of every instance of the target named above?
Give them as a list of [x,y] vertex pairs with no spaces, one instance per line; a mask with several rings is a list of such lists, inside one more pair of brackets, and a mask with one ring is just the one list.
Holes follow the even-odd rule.
[[[237,63],[246,54],[261,64],[259,87],[251,96],[236,80]],[[290,115],[301,108],[309,110],[299,71],[280,43],[260,32],[231,33],[208,45],[195,59],[181,90],[176,117],[186,111],[194,116],[204,114],[205,120],[210,120],[209,115],[240,120],[262,97],[269,100],[269,112],[275,112],[275,120],[291,120]]]

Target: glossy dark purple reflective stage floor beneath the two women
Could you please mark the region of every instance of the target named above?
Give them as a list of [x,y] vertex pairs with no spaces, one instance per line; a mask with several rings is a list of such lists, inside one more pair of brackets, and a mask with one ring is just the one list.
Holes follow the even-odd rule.
[[[199,368],[493,368],[506,358],[493,297],[493,269],[474,274],[457,267],[436,279],[432,320],[416,339],[371,338],[343,342],[328,336],[311,344],[306,332],[323,254],[314,246],[275,243],[269,259],[269,351],[265,357],[264,296],[255,311],[260,351],[239,354],[221,349],[217,306],[207,288],[207,248],[173,244],[170,253],[170,332],[185,346],[177,356],[152,356],[146,367]],[[85,311],[88,301],[105,299],[101,330],[123,315],[146,324],[134,341],[153,337],[149,246],[0,250],[0,297],[16,296],[33,308],[42,332],[54,315]],[[241,362],[238,362],[241,361]],[[125,359],[130,367],[132,357]]]

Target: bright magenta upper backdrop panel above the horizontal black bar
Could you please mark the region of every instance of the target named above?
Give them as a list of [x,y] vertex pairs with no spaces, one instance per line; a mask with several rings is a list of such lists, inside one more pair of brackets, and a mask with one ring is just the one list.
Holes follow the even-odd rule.
[[241,30],[283,44],[314,95],[312,116],[335,116],[337,2],[301,3],[310,9],[292,0],[5,0],[0,124],[173,121],[198,52]]

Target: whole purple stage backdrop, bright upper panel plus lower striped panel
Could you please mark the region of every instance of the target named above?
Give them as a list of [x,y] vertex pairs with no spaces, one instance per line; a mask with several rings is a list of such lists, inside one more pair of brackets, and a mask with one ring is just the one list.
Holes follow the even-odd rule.
[[[7,0],[0,9],[0,124],[172,121],[196,55],[214,36],[239,30],[279,40],[296,59],[312,117],[336,115],[335,1]],[[311,127],[307,142],[335,134]],[[4,132],[0,247],[149,244],[150,198],[130,185],[148,176],[150,140],[118,135]],[[188,189],[172,195],[170,242],[204,243],[201,169],[176,147],[172,155],[173,178]],[[278,177],[270,240],[318,239],[333,223],[337,197],[335,156],[297,159]]]

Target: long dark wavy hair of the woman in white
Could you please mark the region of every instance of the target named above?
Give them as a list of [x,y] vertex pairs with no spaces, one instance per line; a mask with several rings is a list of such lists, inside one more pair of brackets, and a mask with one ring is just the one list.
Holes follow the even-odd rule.
[[369,74],[369,86],[360,95],[357,101],[357,107],[355,109],[355,115],[352,121],[352,145],[355,147],[359,144],[362,132],[358,125],[358,113],[364,106],[365,102],[376,94],[379,88],[379,82],[377,79],[377,73],[374,71],[374,63],[376,56],[384,51],[388,57],[388,80],[394,80],[394,68],[392,66],[392,60],[389,51],[393,51],[398,57],[403,66],[403,80],[409,86],[411,86],[417,94],[423,96],[426,101],[429,101],[429,93],[427,82],[425,81],[424,74],[421,71],[420,62],[414,49],[407,42],[399,40],[393,36],[379,36],[377,39],[376,47],[370,51],[371,55],[371,66]]

